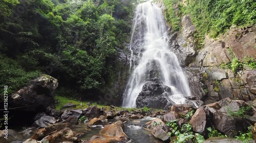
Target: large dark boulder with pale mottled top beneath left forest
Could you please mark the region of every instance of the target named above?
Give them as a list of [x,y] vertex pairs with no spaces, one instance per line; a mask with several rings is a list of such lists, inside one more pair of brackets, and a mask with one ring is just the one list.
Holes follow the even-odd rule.
[[22,111],[38,111],[46,109],[54,101],[54,91],[58,87],[57,79],[42,75],[31,81],[31,84],[10,95],[9,108],[38,105],[22,108]]

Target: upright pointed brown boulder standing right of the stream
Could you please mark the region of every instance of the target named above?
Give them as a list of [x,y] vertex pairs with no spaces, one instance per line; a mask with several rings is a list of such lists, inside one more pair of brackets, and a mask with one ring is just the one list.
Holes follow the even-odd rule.
[[203,108],[198,108],[190,120],[193,131],[204,134],[206,130],[206,114]]

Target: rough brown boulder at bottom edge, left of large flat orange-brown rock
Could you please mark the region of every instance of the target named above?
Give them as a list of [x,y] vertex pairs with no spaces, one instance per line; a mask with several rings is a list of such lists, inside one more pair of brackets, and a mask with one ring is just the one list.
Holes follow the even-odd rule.
[[74,132],[70,128],[65,128],[47,136],[46,139],[51,143],[59,143],[63,141],[76,141],[77,137],[74,137]]

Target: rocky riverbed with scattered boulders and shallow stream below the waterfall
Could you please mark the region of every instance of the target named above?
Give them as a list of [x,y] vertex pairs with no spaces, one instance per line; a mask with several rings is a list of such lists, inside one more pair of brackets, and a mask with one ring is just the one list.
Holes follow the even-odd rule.
[[[199,108],[181,104],[159,111],[120,110],[115,106],[98,108],[96,105],[61,111],[48,107],[46,112],[37,113],[31,127],[19,132],[8,130],[8,139],[1,131],[0,142],[141,142],[140,139],[146,142],[175,142],[179,134],[172,132],[188,130],[184,129],[184,125],[190,125],[190,134],[193,135],[185,142],[194,142],[199,136],[197,133],[206,139],[204,142],[241,142],[233,137],[247,132],[251,125],[250,132],[256,139],[255,107],[256,100],[245,102],[229,98]],[[240,116],[240,112],[244,116]],[[209,128],[218,131],[217,136],[222,138],[212,137]]]

